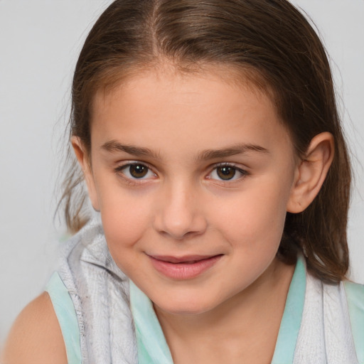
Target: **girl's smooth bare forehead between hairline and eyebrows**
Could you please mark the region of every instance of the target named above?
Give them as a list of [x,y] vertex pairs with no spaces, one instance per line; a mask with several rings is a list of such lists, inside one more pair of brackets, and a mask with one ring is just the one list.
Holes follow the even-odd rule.
[[287,138],[272,98],[252,82],[240,81],[222,77],[219,70],[153,70],[130,77],[95,96],[92,139],[120,139],[152,149],[168,144],[196,149],[197,143],[209,149]]

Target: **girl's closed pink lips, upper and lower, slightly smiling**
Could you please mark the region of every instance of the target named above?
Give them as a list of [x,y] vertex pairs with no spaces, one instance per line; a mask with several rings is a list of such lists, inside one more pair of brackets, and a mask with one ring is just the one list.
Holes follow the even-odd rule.
[[166,255],[149,255],[153,267],[173,279],[191,279],[213,267],[223,255],[185,255],[171,257]]

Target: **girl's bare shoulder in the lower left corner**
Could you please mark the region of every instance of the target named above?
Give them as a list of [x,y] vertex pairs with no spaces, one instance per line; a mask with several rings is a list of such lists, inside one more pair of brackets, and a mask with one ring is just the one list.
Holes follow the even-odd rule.
[[31,301],[16,319],[1,355],[1,364],[65,364],[62,332],[48,293]]

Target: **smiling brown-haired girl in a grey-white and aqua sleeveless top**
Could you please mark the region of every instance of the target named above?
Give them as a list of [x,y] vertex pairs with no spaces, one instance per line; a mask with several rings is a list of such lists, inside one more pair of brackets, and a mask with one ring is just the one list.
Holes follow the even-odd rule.
[[364,363],[348,152],[288,1],[114,1],[77,62],[70,141],[78,232],[4,363]]

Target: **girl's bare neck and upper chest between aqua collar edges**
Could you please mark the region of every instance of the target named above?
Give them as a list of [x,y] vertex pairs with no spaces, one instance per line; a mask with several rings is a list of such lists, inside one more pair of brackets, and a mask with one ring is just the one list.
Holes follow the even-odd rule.
[[173,362],[270,363],[293,272],[294,266],[274,259],[250,287],[202,314],[154,306]]

